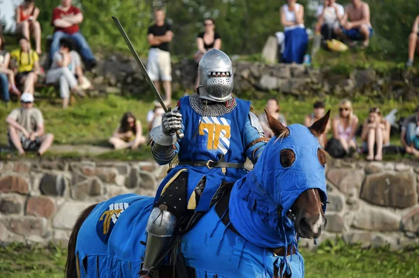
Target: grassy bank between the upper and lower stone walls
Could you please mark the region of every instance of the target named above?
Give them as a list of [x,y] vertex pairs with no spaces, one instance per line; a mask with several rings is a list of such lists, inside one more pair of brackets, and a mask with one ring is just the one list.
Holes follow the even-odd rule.
[[[178,92],[177,95],[182,95]],[[303,123],[304,116],[311,113],[312,104],[315,98],[299,99],[292,96],[274,95],[266,93],[263,99],[253,100],[253,106],[257,114],[263,113],[263,107],[267,98],[276,96],[281,105],[281,113],[284,114],[288,124]],[[175,98],[174,98],[175,99]],[[332,109],[332,115],[337,114],[340,99],[326,96],[324,99],[327,109]],[[355,114],[362,123],[368,115],[370,107],[381,107],[384,114],[394,108],[399,109],[398,116],[408,116],[414,113],[418,101],[406,102],[399,100],[385,100],[383,103],[376,103],[373,100],[358,95],[353,99]],[[0,109],[0,145],[7,145],[5,123],[6,117],[11,109],[19,107],[19,103],[13,103],[9,109]],[[132,97],[119,95],[108,95],[105,98],[86,98],[78,100],[75,105],[68,109],[61,109],[60,105],[54,105],[49,100],[37,100],[36,107],[41,109],[45,118],[46,132],[52,132],[55,136],[54,144],[108,146],[108,138],[117,127],[122,114],[132,111],[142,122],[143,133],[146,134],[146,114],[153,108],[151,100],[138,100]],[[358,139],[358,143],[360,140]],[[399,145],[399,137],[392,137],[392,144]],[[0,153],[0,158],[8,158],[15,153]],[[47,157],[80,157],[78,153],[46,153]],[[102,155],[87,155],[98,159],[108,160],[143,160],[150,157],[149,147],[144,146],[135,151],[115,151]],[[29,155],[30,157],[30,155]]]

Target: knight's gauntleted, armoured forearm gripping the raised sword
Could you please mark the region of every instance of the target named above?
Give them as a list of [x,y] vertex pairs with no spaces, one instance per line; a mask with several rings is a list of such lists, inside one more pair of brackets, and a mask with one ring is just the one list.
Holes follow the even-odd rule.
[[179,152],[176,131],[182,130],[182,114],[178,107],[162,115],[161,125],[150,132],[152,137],[152,155],[160,164],[168,164]]

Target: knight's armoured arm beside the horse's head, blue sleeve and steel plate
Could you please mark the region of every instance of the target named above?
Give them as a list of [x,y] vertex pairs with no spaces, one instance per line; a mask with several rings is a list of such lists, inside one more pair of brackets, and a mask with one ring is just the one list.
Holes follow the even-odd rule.
[[253,111],[249,111],[244,127],[244,144],[246,144],[247,157],[253,164],[258,161],[258,157],[265,148],[267,141],[269,141],[269,138],[265,137],[258,116]]

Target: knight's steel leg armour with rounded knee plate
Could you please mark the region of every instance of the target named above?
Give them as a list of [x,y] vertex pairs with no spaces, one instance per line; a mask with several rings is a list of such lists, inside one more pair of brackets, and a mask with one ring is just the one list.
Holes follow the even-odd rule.
[[152,277],[153,265],[166,251],[175,231],[177,217],[167,210],[167,206],[160,205],[153,208],[147,222],[147,244],[140,277]]

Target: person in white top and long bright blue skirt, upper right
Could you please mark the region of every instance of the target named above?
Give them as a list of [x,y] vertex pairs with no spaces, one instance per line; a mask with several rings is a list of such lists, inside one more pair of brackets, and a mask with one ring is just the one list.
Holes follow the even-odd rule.
[[286,0],[281,7],[281,24],[285,31],[283,63],[302,63],[307,52],[309,36],[304,27],[304,7],[297,0]]

